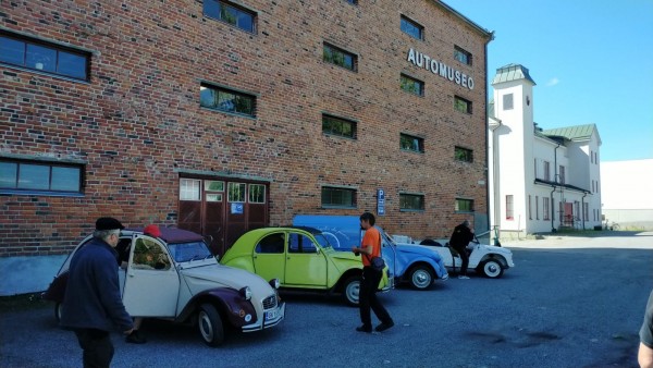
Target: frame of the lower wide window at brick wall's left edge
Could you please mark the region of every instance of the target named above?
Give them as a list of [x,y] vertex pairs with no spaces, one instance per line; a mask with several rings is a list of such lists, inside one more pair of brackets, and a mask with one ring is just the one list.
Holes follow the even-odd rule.
[[[3,174],[10,173],[12,168],[10,165],[15,164],[13,168],[13,185],[9,185],[9,181],[7,186],[3,182],[0,182],[0,194],[15,194],[15,195],[44,195],[44,196],[65,196],[65,197],[75,197],[75,196],[84,196],[85,189],[85,164],[83,163],[73,163],[73,162],[53,162],[48,160],[28,160],[28,159],[13,159],[13,158],[3,158],[0,157],[0,164],[8,164],[5,168],[8,171]],[[2,169],[3,165],[0,165]],[[22,168],[23,167],[23,168]],[[22,176],[25,170],[28,170],[29,167],[33,169],[41,169],[47,168],[47,183],[45,183],[44,173],[34,172],[33,176]],[[58,177],[67,179],[70,177],[70,173],[59,172],[57,169],[73,169],[77,173],[77,183],[75,188],[69,189],[57,189],[52,188],[53,185],[58,185]],[[11,175],[11,173],[10,173]],[[28,171],[27,171],[28,175]],[[25,186],[25,184],[21,184],[21,181],[38,181],[40,183],[39,186]],[[42,187],[46,184],[47,188]]]

